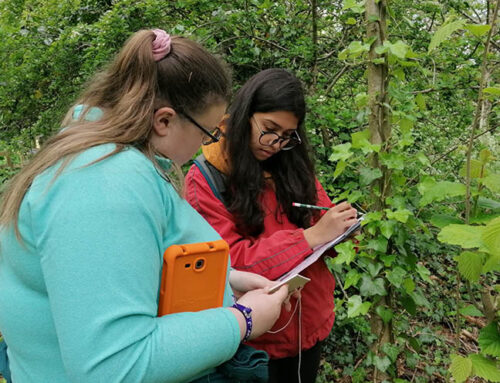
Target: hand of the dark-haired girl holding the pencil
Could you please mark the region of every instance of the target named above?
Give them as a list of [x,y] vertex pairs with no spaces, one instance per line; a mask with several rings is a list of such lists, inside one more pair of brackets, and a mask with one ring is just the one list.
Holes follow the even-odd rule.
[[344,233],[357,221],[357,210],[350,203],[342,202],[328,210],[314,226],[304,230],[309,247],[322,245]]

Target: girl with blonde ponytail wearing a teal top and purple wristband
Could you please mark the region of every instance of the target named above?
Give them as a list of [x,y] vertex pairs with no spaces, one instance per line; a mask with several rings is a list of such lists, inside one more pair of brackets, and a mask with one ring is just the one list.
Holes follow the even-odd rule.
[[220,239],[171,170],[206,140],[197,124],[221,120],[230,89],[198,44],[139,31],[14,177],[0,210],[13,381],[231,381],[214,367],[275,322],[286,287],[268,294],[269,280],[237,271],[225,307],[157,317],[165,249]]

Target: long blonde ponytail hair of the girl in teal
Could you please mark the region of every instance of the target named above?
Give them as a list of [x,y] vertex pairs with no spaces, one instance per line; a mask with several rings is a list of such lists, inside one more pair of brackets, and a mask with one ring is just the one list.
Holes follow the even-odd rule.
[[[108,68],[91,80],[74,104],[85,106],[79,118],[73,119],[72,107],[62,122],[65,129],[47,140],[9,182],[0,205],[0,226],[13,223],[20,238],[22,200],[35,177],[58,161],[62,164],[56,177],[78,153],[106,143],[116,144],[116,149],[98,161],[127,146],[138,148],[154,161],[150,135],[155,109],[169,105],[180,114],[197,114],[212,103],[227,100],[230,77],[221,61],[199,44],[172,36],[170,53],[156,62],[154,39],[151,30],[136,32]],[[103,111],[98,121],[85,119],[92,107]]]

